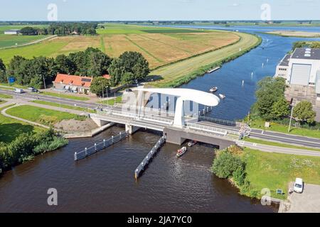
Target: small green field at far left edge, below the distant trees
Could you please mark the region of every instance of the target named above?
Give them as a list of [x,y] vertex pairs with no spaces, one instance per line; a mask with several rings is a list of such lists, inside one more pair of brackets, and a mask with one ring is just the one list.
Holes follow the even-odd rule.
[[41,40],[49,35],[4,35],[0,34],[0,48],[9,48],[15,45],[23,45],[36,40]]

